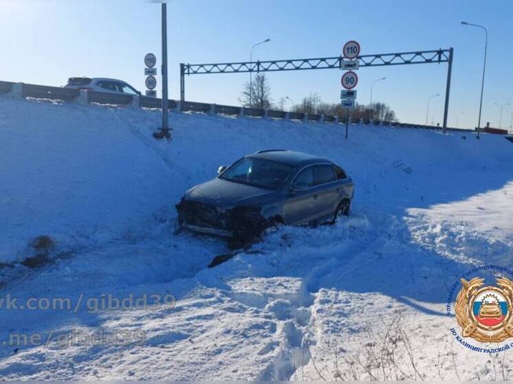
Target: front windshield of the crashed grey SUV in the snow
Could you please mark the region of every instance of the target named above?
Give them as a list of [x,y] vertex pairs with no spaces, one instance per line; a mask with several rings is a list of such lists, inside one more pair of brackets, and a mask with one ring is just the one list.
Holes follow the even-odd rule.
[[220,179],[277,190],[292,172],[292,166],[245,157],[219,176]]

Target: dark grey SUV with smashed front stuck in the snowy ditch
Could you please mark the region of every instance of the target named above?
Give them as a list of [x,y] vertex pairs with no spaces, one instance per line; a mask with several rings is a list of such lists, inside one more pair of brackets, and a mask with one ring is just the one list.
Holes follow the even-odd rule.
[[221,166],[176,206],[178,224],[250,240],[276,224],[318,225],[349,214],[354,184],[332,161],[292,150],[261,150]]

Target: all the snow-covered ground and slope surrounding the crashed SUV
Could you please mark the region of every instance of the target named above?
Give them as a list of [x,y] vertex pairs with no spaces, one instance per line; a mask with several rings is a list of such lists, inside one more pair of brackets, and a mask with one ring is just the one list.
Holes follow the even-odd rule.
[[[357,125],[345,140],[334,124],[172,113],[168,143],[151,137],[159,120],[0,98],[0,297],[80,302],[3,304],[0,378],[493,380],[512,369],[507,355],[457,344],[445,315],[472,265],[513,267],[511,142]],[[282,227],[207,269],[226,245],[173,235],[174,205],[219,165],[263,148],[340,163],[356,183],[351,216]],[[19,264],[43,235],[52,262]],[[177,301],[88,309],[109,294]],[[124,339],[63,345],[95,330]],[[48,341],[9,346],[12,334]]]

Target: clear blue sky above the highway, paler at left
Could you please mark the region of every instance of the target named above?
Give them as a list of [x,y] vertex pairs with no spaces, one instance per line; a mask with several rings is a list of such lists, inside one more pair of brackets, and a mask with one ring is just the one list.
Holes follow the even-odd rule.
[[[449,124],[477,124],[484,34],[460,21],[485,25],[489,33],[483,122],[502,126],[513,111],[513,1],[168,1],[169,94],[179,98],[179,63],[213,63],[338,56],[345,41],[360,42],[362,54],[454,47]],[[0,80],[60,86],[71,76],[121,78],[144,91],[144,54],[160,60],[160,4],[144,1],[0,0]],[[160,61],[157,63],[160,65]],[[358,101],[386,102],[403,122],[441,123],[446,64],[362,68]],[[160,74],[160,71],[159,71]],[[338,69],[272,72],[272,98],[299,102],[318,93],[339,102]],[[186,78],[186,99],[239,104],[248,74]],[[157,77],[157,89],[161,79]],[[463,113],[463,114],[461,114]]]

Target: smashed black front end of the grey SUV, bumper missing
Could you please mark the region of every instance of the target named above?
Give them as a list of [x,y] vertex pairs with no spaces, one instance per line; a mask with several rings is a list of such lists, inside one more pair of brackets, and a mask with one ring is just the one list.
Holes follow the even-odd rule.
[[176,209],[179,227],[201,234],[248,239],[260,236],[268,227],[260,207],[240,205],[226,209],[182,199]]

